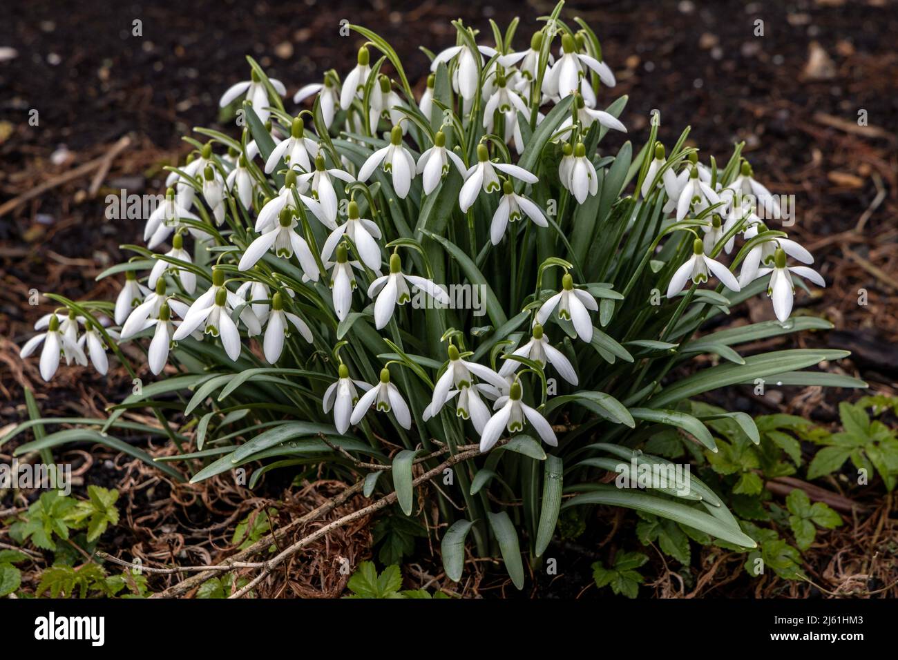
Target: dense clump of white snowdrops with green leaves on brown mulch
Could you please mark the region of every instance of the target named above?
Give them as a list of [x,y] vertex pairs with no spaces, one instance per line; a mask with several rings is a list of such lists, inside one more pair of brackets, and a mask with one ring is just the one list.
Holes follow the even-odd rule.
[[[194,151],[169,168],[146,247],[125,246],[134,257],[101,274],[123,277],[118,299],[48,295],[60,307],[22,348],[40,349],[45,379],[60,360],[105,374],[111,351],[145,382],[41,447],[89,440],[149,461],[116,434],[163,436],[179,453],[154,464],[173,478],[248,465],[250,487],[323,465],[364,479],[366,495],[395,490],[406,515],[436,507],[456,580],[467,547],[501,555],[520,588],[522,554],[538,564],[570,507],[627,506],[753,547],[695,477],[603,477],[665,465],[638,448],[670,427],[715,451],[691,408],[703,392],[858,386],[803,371],[845,352],[738,351],[829,328],[791,317],[800,278],[823,278],[777,228],[777,198],[742,145],[718,164],[686,145],[688,128],[663,144],[653,118],[638,152],[600,150],[626,131],[627,99],[613,98],[594,31],[560,8],[523,49],[516,21],[493,23],[489,46],[455,22],[454,45],[422,48],[421,93],[359,26],[356,65],[300,88],[292,113],[286,86],[248,58],[250,80],[221,98],[237,130],[184,138]],[[703,330],[753,295],[770,296],[777,321]],[[128,421],[136,408],[158,426]],[[750,417],[726,416],[758,441]],[[416,502],[413,475],[458,454]]]

